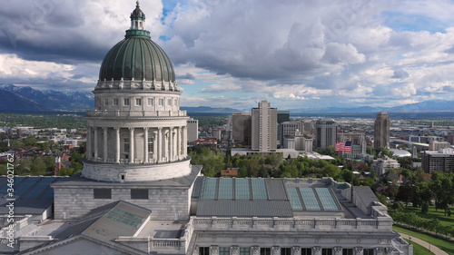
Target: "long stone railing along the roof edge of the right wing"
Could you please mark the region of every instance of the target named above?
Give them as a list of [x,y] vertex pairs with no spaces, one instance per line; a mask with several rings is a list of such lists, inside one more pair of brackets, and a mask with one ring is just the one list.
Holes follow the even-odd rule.
[[194,230],[392,230],[392,219],[285,219],[285,218],[208,218],[194,217]]

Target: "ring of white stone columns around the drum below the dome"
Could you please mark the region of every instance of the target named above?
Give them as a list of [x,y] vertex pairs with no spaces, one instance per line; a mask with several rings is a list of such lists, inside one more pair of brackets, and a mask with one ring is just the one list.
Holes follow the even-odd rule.
[[[129,133],[125,136],[124,132]],[[110,141],[112,140],[113,133],[114,142]],[[143,133],[142,150],[135,146],[135,143],[139,142],[139,138],[136,137],[136,134],[138,133]],[[102,139],[100,139],[100,135],[103,136]],[[123,136],[123,142],[121,136]],[[129,138],[129,151],[126,151],[127,146],[124,144],[126,143],[124,142],[126,137]],[[103,142],[102,147],[98,144],[100,143],[100,140]],[[183,159],[187,155],[187,127],[122,128],[87,126],[86,146],[87,159],[94,162],[174,162]],[[153,148],[149,148],[149,146],[153,146]],[[100,154],[100,148],[103,148],[102,155]],[[137,152],[135,151],[136,149]],[[114,150],[114,159],[109,159],[110,150]]]

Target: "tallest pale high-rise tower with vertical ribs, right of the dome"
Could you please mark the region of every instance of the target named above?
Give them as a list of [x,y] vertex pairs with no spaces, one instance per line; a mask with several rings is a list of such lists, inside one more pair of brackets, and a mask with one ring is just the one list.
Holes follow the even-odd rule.
[[252,150],[272,152],[277,149],[277,113],[265,100],[258,108],[252,108]]

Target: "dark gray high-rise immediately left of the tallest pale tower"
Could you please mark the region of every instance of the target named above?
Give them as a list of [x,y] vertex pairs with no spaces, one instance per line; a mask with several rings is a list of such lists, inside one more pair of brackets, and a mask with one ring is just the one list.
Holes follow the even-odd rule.
[[242,145],[250,147],[252,140],[251,128],[251,113],[232,113],[232,143],[242,143]]

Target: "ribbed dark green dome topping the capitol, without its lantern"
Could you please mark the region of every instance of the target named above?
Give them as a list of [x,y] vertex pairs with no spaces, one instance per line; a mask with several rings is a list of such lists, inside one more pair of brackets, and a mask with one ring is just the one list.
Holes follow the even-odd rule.
[[99,72],[101,81],[122,78],[174,83],[175,73],[169,57],[158,44],[147,36],[127,34],[105,55]]

